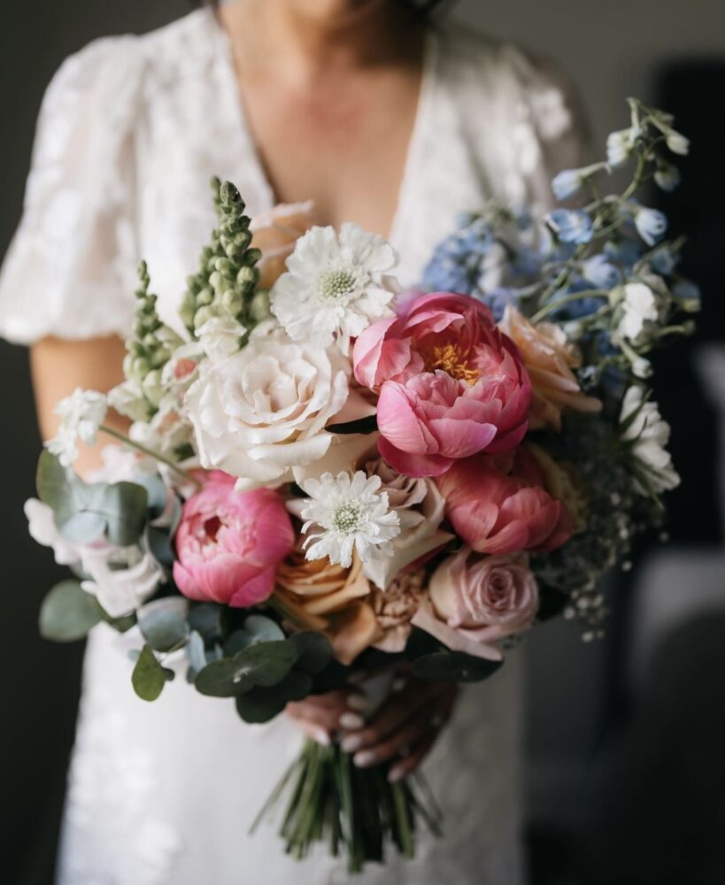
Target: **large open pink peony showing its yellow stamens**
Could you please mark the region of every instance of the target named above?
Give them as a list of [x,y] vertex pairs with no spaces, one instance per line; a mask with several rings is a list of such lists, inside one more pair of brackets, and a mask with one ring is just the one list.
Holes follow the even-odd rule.
[[510,451],[528,427],[531,384],[513,342],[474,298],[437,293],[359,336],[355,377],[379,391],[380,453],[399,473],[437,476],[480,451]]

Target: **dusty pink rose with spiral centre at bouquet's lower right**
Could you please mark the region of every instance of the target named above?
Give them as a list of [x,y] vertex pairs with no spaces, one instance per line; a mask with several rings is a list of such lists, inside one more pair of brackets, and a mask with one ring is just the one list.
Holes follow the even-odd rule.
[[438,566],[428,596],[413,624],[453,651],[491,660],[500,658],[494,643],[531,627],[539,604],[525,557],[482,556],[468,547]]

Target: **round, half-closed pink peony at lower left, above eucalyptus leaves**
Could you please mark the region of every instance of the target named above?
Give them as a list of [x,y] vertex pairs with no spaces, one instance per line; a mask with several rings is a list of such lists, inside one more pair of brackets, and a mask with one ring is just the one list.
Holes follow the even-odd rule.
[[271,489],[236,492],[234,477],[213,471],[184,504],[174,581],[189,599],[256,605],[271,596],[277,565],[294,543],[280,496]]

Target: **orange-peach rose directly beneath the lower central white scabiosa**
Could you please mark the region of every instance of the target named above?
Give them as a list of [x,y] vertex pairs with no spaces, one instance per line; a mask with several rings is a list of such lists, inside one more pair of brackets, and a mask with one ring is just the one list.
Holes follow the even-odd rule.
[[297,544],[277,568],[274,600],[293,627],[326,635],[342,664],[351,664],[381,637],[357,557],[343,568],[327,558],[305,559]]

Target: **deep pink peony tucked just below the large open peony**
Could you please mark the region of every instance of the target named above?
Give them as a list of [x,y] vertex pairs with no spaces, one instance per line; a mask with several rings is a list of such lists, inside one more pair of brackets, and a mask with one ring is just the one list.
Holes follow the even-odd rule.
[[525,448],[510,458],[458,461],[436,484],[454,530],[479,553],[554,550],[572,533],[566,504],[546,491],[544,472]]

